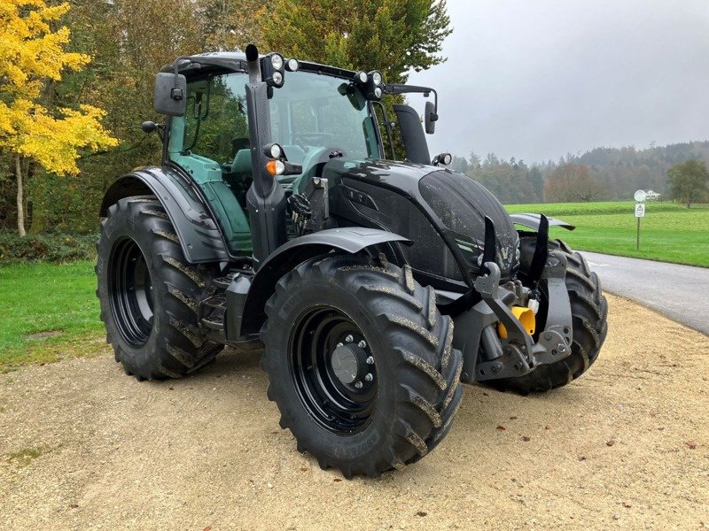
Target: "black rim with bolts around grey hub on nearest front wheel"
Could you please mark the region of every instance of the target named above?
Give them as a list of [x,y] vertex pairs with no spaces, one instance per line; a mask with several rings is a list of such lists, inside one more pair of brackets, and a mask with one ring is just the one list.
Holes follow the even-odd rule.
[[[346,342],[363,345],[362,356],[369,360],[352,383],[340,381],[331,363],[332,352]],[[345,313],[319,306],[301,314],[292,329],[289,363],[300,402],[318,424],[339,434],[367,426],[378,396],[376,360],[362,331]]]

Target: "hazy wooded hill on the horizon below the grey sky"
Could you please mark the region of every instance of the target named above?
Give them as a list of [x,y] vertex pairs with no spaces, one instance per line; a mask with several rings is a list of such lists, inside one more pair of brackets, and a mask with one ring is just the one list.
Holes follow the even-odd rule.
[[627,200],[636,189],[651,189],[666,197],[667,169],[690,158],[709,165],[709,141],[652,146],[644,150],[633,146],[594,148],[580,155],[568,154],[557,162],[532,164],[515,158],[501,160],[492,153],[483,160],[471,153],[467,159],[454,157],[452,167],[480,181],[505,204],[543,201],[545,195],[549,195],[549,184],[554,181],[549,177],[555,172],[558,176],[567,165],[588,169],[591,188],[595,190],[594,200]]

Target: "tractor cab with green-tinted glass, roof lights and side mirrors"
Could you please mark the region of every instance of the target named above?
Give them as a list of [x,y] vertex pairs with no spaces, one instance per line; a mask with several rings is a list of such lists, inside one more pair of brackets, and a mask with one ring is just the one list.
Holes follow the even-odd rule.
[[[247,193],[254,174],[262,173],[263,147],[252,141],[253,129],[268,132],[268,143],[277,144],[281,151],[278,158],[289,163],[288,171],[272,176],[287,200],[303,194],[333,158],[374,161],[386,154],[395,158],[395,124],[380,100],[386,92],[415,91],[408,87],[402,91],[402,85],[388,88],[376,71],[357,73],[296,59],[286,61],[278,54],[261,57],[258,63],[261,72],[267,73],[268,84],[265,101],[259,105],[268,111],[254,113],[251,120],[260,123],[253,124],[246,95],[249,63],[245,54],[220,52],[181,58],[160,74],[166,80],[184,76],[186,82],[184,112],[169,119],[164,162],[188,173],[198,185],[234,257],[253,253]],[[159,85],[157,90],[159,101],[165,89],[160,94]],[[419,91],[435,93],[433,89]],[[418,114],[406,105],[394,108],[400,117],[403,142],[412,151],[406,158],[430,164]],[[427,107],[427,112],[430,124],[430,118],[435,119],[434,107]],[[382,136],[389,141],[386,150]],[[286,238],[296,234],[287,232]]]

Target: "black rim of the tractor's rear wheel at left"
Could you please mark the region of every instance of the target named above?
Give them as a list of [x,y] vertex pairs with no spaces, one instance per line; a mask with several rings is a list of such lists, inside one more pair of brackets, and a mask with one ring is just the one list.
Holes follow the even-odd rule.
[[152,331],[152,280],[143,252],[129,238],[116,242],[109,260],[109,294],[116,327],[133,347]]

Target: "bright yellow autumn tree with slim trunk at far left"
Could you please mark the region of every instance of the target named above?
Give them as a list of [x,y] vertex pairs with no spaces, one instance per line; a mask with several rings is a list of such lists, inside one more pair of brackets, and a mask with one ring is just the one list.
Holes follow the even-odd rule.
[[0,151],[14,159],[20,236],[26,235],[23,168],[27,160],[51,173],[75,175],[81,150],[118,144],[101,125],[105,115],[101,109],[53,108],[43,102],[48,83],[59,81],[66,69],[81,70],[90,62],[87,55],[66,51],[69,29],[58,26],[68,10],[67,3],[0,1]]

